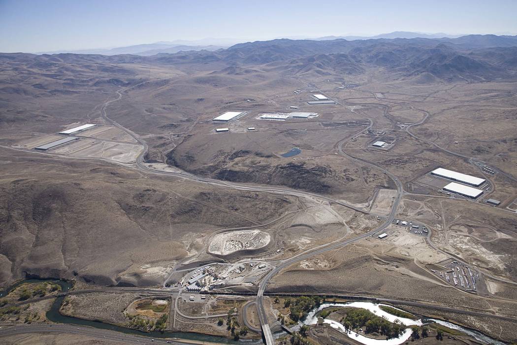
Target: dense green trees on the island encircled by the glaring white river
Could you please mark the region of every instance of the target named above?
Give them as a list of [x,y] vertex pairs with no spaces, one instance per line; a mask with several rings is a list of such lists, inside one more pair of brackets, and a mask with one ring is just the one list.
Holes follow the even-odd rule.
[[387,339],[398,338],[404,333],[406,326],[396,320],[391,323],[386,319],[376,316],[365,309],[352,309],[341,319],[341,323],[347,331],[364,327],[365,333],[379,333]]

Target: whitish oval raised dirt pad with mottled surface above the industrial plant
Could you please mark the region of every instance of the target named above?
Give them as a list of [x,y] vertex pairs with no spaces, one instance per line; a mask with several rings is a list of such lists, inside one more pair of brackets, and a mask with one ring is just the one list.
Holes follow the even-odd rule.
[[240,230],[215,235],[208,246],[208,252],[229,255],[241,250],[256,250],[268,245],[270,236],[260,230]]

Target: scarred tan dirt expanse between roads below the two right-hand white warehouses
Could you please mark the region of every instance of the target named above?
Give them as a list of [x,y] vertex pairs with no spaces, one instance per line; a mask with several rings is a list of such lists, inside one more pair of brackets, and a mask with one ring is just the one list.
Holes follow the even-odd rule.
[[514,277],[511,254],[517,219],[486,204],[449,198],[405,197],[397,217],[428,224],[433,242],[489,274]]

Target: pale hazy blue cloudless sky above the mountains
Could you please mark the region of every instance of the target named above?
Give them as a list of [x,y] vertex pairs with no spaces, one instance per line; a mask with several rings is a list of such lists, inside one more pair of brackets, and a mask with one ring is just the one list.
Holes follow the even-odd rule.
[[517,33],[517,0],[0,0],[0,51],[120,47],[205,37]]

